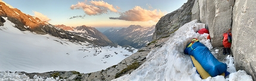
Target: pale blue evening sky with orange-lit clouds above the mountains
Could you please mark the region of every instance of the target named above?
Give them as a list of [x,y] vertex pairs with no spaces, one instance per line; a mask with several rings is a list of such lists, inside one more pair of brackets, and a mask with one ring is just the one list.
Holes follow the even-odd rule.
[[70,27],[151,27],[188,0],[2,0],[21,12]]

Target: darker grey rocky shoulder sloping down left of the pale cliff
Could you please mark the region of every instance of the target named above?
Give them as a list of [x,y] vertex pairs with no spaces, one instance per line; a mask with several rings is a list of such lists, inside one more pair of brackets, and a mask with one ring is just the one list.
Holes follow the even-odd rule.
[[170,34],[178,30],[182,25],[191,21],[191,9],[195,0],[188,0],[182,7],[170,14],[164,15],[155,25],[153,40],[161,37],[168,37]]

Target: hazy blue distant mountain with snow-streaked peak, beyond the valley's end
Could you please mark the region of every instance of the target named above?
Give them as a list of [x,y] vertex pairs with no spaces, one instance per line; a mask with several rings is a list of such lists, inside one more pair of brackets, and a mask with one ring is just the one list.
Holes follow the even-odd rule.
[[129,45],[134,48],[142,48],[152,41],[152,34],[154,31],[155,25],[152,27],[130,25],[127,28],[121,29],[110,28],[109,30],[104,31],[103,34],[119,46]]

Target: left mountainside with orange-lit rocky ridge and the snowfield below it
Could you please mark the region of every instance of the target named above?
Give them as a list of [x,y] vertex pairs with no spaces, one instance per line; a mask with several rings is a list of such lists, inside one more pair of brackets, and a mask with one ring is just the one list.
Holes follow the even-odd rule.
[[133,47],[104,46],[107,44],[98,41],[100,38],[90,37],[99,32],[95,28],[83,25],[65,31],[1,1],[0,25],[0,72],[96,72],[137,51]]

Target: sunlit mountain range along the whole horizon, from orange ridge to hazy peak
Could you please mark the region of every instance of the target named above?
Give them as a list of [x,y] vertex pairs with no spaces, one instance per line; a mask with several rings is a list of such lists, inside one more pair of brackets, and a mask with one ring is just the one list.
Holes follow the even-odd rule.
[[[98,46],[117,46],[116,44],[118,44],[119,46],[128,45],[134,48],[141,48],[151,42],[155,29],[155,25],[152,27],[130,25],[120,30],[111,28],[102,34],[96,28],[86,25],[78,27],[68,27],[63,24],[52,25],[41,21],[37,17],[24,14],[17,8],[10,8],[3,2],[0,2],[0,5],[0,16],[7,17],[7,20],[13,22],[15,24],[14,27],[21,31],[31,31],[42,35],[49,34],[70,41],[88,42]],[[0,25],[3,22],[4,19],[1,19]]]

